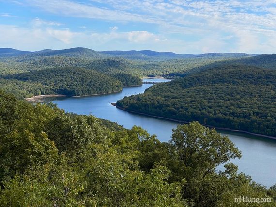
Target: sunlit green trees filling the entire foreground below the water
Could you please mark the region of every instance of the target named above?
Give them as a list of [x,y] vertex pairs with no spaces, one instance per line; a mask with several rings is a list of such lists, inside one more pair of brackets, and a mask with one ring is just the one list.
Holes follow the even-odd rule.
[[[238,173],[230,160],[240,157],[228,137],[198,122],[161,143],[137,126],[0,91],[0,206],[235,207],[245,195],[274,207],[276,185]],[[248,205],[260,206],[239,204]]]

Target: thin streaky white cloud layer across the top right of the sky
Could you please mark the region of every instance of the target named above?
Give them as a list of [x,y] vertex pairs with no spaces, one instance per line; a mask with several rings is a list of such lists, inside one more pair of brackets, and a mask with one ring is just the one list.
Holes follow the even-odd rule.
[[[237,28],[276,28],[275,0],[91,0],[101,3],[81,4],[70,0],[27,0],[31,6],[51,13],[95,18],[109,21],[138,21],[180,27],[200,27],[212,30],[214,20],[219,25],[232,24]],[[243,12],[248,11],[248,12]],[[259,15],[256,12],[269,12]],[[206,27],[207,26],[207,27]]]

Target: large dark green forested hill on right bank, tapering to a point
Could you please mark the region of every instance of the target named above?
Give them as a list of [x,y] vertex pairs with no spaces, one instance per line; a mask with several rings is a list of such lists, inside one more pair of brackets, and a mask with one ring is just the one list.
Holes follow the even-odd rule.
[[276,70],[228,66],[125,97],[127,110],[276,137]]

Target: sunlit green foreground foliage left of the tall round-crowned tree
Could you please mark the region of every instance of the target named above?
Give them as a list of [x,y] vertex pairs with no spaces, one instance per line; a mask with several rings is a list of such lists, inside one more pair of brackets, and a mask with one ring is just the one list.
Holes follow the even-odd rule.
[[111,132],[3,92],[0,103],[0,206],[186,206],[169,169],[139,169],[142,129]]

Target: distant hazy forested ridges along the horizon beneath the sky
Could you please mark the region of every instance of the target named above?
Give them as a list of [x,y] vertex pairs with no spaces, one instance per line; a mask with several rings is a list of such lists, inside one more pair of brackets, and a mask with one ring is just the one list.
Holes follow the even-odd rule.
[[243,53],[180,55],[155,51],[104,51],[87,48],[38,52],[0,48],[0,74],[25,73],[52,68],[81,67],[101,73],[127,73],[138,77],[185,72],[217,61],[245,59]]

